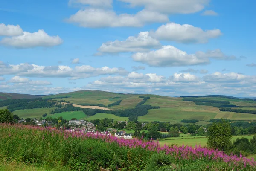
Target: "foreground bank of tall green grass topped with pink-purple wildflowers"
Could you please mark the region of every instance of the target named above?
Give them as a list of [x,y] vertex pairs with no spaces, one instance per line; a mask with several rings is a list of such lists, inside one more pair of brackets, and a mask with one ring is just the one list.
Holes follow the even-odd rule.
[[51,128],[0,125],[0,160],[77,171],[255,171],[256,162],[221,151]]

